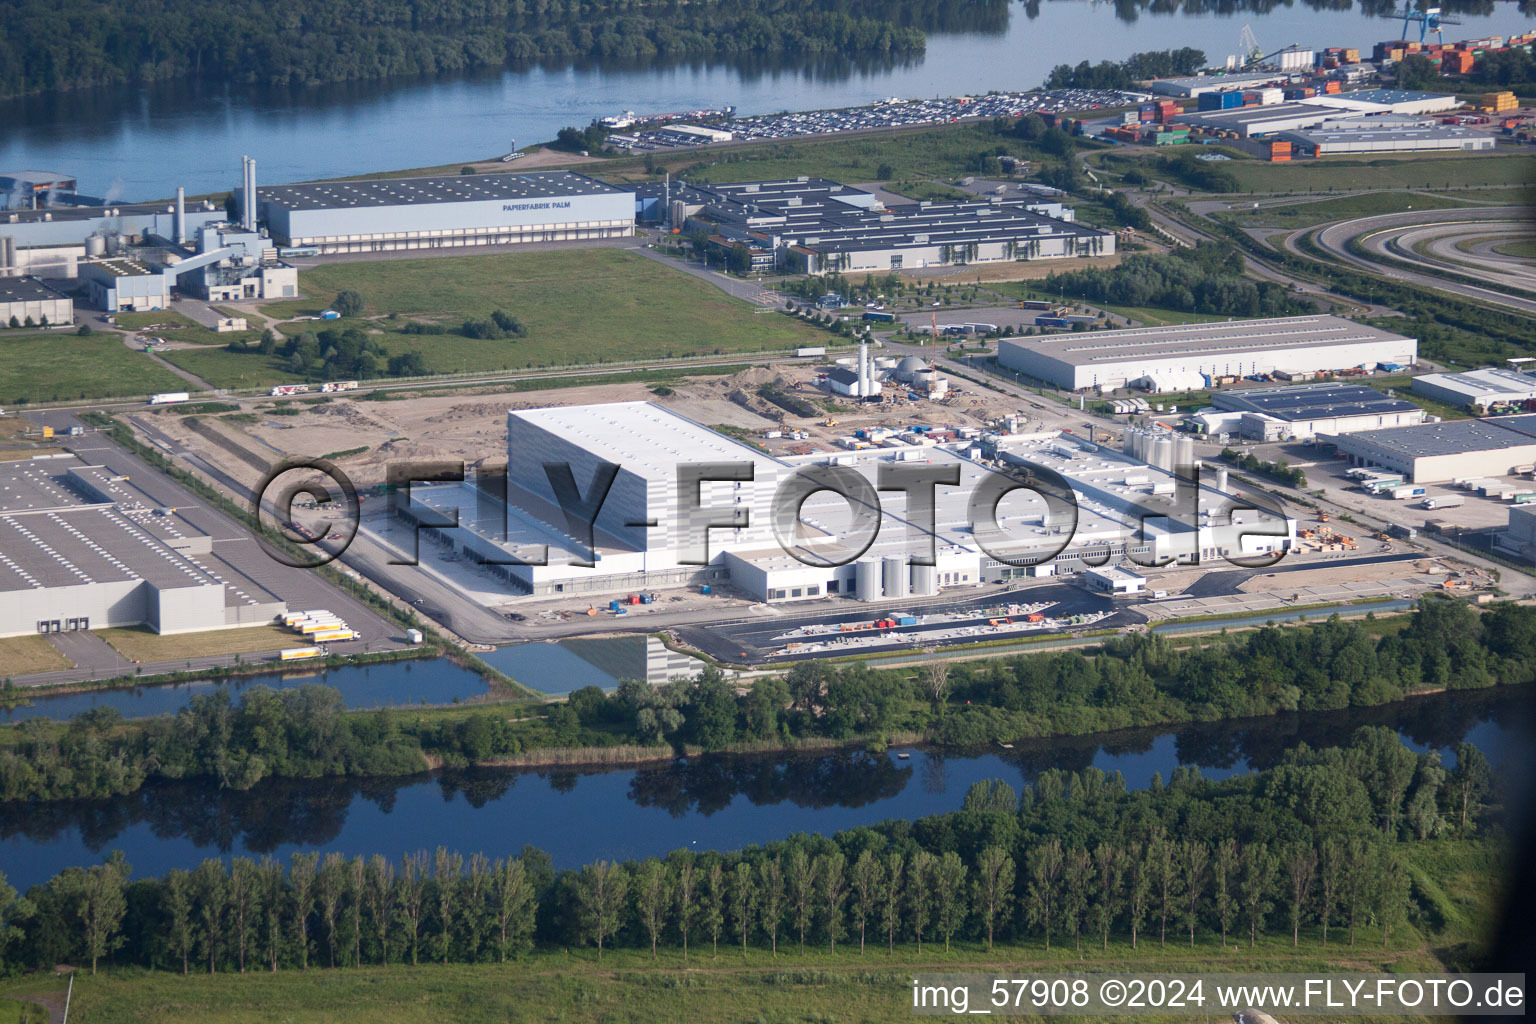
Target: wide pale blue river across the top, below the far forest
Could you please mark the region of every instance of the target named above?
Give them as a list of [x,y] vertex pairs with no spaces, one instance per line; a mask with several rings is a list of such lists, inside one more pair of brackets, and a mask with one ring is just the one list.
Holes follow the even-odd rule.
[[[177,186],[189,195],[233,187],[241,154],[258,160],[264,183],[303,181],[498,157],[513,138],[548,140],[565,124],[625,109],[659,114],[734,104],[740,114],[766,114],[891,95],[1029,89],[1058,63],[1138,51],[1195,46],[1218,61],[1238,52],[1244,25],[1266,51],[1289,43],[1369,48],[1402,29],[1401,21],[1353,6],[1230,3],[1223,6],[1229,14],[1132,17],[1134,8],[1129,0],[1014,3],[980,31],[966,31],[957,18],[925,26],[923,57],[882,66],[533,68],[310,89],[174,83],[37,97],[0,103],[0,170],[45,169],[77,177],[91,195],[154,200]],[[1462,25],[1447,26],[1445,38],[1530,28],[1514,3],[1487,8],[1491,14],[1461,14]]]

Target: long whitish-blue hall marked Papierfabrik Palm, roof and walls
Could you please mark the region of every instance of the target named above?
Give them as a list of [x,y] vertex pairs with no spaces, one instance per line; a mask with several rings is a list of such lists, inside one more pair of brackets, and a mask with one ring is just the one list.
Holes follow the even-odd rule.
[[260,221],[286,247],[321,253],[627,238],[634,193],[570,170],[255,190]]

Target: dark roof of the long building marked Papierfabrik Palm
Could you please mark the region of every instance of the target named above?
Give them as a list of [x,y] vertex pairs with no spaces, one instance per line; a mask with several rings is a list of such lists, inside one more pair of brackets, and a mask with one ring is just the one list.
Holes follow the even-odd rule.
[[310,184],[278,184],[257,189],[257,195],[263,203],[270,203],[287,210],[551,200],[573,195],[622,193],[622,189],[570,170],[387,178],[378,181],[315,181]]

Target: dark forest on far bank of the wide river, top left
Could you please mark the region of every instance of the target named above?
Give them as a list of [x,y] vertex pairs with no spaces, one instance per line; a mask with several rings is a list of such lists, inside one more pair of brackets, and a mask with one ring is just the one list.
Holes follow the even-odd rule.
[[892,58],[919,54],[919,0],[341,0],[198,5],[18,0],[0,21],[0,97],[206,78],[310,86],[536,61]]

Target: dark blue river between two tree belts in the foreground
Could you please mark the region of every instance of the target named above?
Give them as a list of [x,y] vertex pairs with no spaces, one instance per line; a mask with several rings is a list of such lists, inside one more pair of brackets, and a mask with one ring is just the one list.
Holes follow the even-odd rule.
[[[1212,778],[1273,765],[1298,743],[1347,742],[1389,725],[1415,749],[1470,740],[1495,763],[1522,758],[1533,688],[1464,691],[1405,705],[1020,743],[1014,751],[699,757],[625,769],[479,769],[390,780],[269,781],[249,792],[157,783],[112,798],[0,806],[0,870],[26,889],[121,849],[137,875],[206,857],[347,855],[444,844],[504,855],[531,843],[568,867],[677,847],[737,849],[796,831],[833,834],[954,811],[971,783],[1015,788],[1049,768],[1118,771],[1132,788],[1180,765]],[[1519,794],[1510,795],[1521,806]]]

